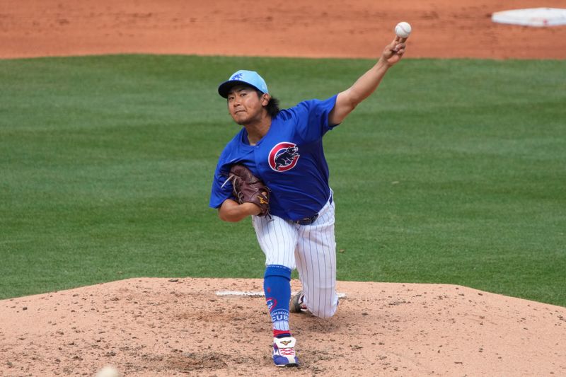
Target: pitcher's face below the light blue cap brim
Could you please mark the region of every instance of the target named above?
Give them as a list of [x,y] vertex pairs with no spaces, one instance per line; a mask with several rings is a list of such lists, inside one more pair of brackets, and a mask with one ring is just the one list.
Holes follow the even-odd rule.
[[234,122],[250,124],[261,119],[268,101],[249,86],[234,86],[228,93],[228,110]]

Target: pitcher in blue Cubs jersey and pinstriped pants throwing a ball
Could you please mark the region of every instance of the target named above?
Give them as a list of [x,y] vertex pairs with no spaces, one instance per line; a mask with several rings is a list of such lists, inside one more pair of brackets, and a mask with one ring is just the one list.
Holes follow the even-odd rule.
[[[335,201],[328,185],[322,139],[373,93],[405,52],[395,37],[379,61],[345,91],[279,110],[255,71],[236,71],[221,83],[234,122],[243,126],[219,158],[210,207],[223,221],[251,216],[265,254],[264,291],[273,330],[276,366],[298,366],[289,311],[334,315],[336,295]],[[291,300],[291,271],[302,291]]]

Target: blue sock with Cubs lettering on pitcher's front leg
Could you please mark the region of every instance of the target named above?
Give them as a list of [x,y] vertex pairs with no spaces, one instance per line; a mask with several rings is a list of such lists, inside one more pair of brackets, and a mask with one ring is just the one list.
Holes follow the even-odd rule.
[[271,315],[273,337],[290,337],[291,269],[281,265],[268,265],[263,277],[263,291]]

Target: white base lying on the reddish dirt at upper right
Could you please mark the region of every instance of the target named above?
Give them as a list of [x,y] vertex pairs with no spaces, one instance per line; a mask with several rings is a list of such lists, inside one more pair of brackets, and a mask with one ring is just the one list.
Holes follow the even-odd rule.
[[566,9],[562,8],[529,8],[512,11],[495,12],[491,21],[510,23],[512,25],[544,26],[566,25]]

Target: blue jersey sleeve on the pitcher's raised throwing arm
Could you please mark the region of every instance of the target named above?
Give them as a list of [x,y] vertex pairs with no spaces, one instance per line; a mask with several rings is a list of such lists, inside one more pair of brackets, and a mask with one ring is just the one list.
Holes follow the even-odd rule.
[[337,95],[326,100],[306,100],[290,108],[296,132],[306,142],[316,141],[337,124],[328,123],[328,115],[336,105]]

